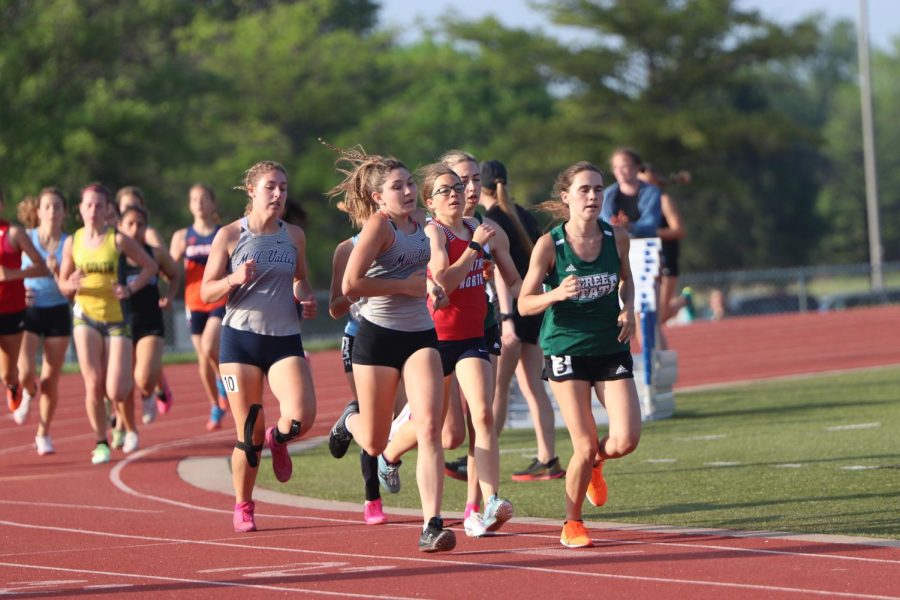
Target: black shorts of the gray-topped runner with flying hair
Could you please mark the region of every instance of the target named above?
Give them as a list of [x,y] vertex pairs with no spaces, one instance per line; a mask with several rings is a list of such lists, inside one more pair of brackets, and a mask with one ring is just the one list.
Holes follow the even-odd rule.
[[354,365],[393,367],[401,371],[406,360],[422,348],[437,348],[434,329],[397,331],[362,319],[351,356]]

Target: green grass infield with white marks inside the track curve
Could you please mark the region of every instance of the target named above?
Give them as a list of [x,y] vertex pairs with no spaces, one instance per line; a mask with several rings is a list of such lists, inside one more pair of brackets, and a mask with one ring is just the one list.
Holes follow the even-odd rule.
[[[584,516],[900,539],[898,381],[900,368],[891,368],[680,393],[674,418],[646,423],[637,451],[609,462],[609,502],[585,503]],[[505,431],[501,448],[501,495],[516,513],[562,519],[563,480],[510,481],[534,453],[533,433]],[[557,432],[557,451],[565,464],[571,455],[565,430]],[[356,446],[340,461],[324,445],[305,452],[295,458],[288,484],[275,481],[264,461],[259,484],[361,503],[357,456]],[[419,506],[415,462],[414,453],[405,457],[403,489],[385,494],[386,507]],[[462,510],[464,488],[446,479],[446,510]]]

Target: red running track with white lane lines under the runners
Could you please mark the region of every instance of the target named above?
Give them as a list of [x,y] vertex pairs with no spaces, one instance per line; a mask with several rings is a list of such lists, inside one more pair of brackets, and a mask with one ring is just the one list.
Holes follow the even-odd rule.
[[[671,328],[680,387],[900,363],[900,307]],[[323,436],[347,397],[334,352],[312,358]],[[900,598],[900,541],[735,534],[589,523],[595,548],[558,542],[555,521],[423,555],[420,519],[366,527],[359,506],[261,492],[260,531],[231,528],[231,431],[206,433],[190,365],[167,367],[175,410],[142,449],[93,467],[77,375],[38,457],[34,415],[0,422],[0,596],[20,598]],[[269,400],[271,402],[271,399]],[[271,404],[270,404],[271,406]],[[230,421],[229,421],[230,424]],[[301,465],[302,457],[295,459]],[[452,513],[448,517],[453,516]]]

